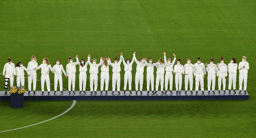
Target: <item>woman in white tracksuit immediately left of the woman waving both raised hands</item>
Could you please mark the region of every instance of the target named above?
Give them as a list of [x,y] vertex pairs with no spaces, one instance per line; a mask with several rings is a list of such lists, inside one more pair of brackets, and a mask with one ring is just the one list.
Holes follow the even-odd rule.
[[160,58],[156,64],[156,79],[155,79],[155,93],[152,92],[152,94],[157,94],[158,92],[158,86],[159,81],[161,85],[161,94],[167,94],[167,91],[164,93],[164,74],[165,74],[165,66],[168,66],[167,64],[163,64],[163,58]]

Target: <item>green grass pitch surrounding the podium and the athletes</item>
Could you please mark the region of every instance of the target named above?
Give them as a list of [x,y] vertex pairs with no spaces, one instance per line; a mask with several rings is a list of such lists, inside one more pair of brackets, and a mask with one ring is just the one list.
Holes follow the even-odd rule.
[[[255,23],[253,1],[5,1],[0,2],[0,66],[7,57],[27,67],[32,54],[38,64],[48,57],[65,67],[69,55],[79,58],[106,56],[113,59],[163,57],[183,64],[188,57],[209,63],[225,63],[245,55],[250,63],[249,100],[246,101],[78,101],[69,113],[47,123],[1,137],[254,137],[255,135]],[[92,60],[91,60],[92,61]],[[76,90],[79,90],[78,71]],[[89,69],[89,67],[88,67]],[[121,90],[123,65],[121,65]],[[112,90],[110,67],[109,91]],[[136,64],[133,65],[133,82]],[[155,69],[156,72],[156,69]],[[89,72],[87,72],[89,91]],[[100,73],[98,74],[100,77]],[[50,82],[53,83],[53,74]],[[40,79],[40,70],[37,71]],[[183,77],[184,79],[184,77]],[[207,78],[205,89],[207,88]],[[184,81],[183,81],[184,82]],[[228,83],[228,81],[227,81]],[[4,90],[4,78],[0,80]],[[16,84],[16,79],[14,81]],[[98,84],[100,84],[100,79]],[[216,81],[216,89],[218,89]],[[25,79],[27,86],[27,79]],[[228,85],[228,84],[227,84]],[[63,78],[67,89],[68,80]],[[144,89],[146,90],[146,73]],[[195,81],[194,86],[195,88]],[[227,88],[227,86],[226,86]],[[173,90],[175,83],[173,83]],[[237,76],[238,89],[238,76]],[[40,82],[37,81],[40,91]],[[45,88],[46,90],[46,88]],[[53,90],[53,85],[51,85]],[[59,90],[59,89],[58,89]],[[100,85],[98,85],[100,90]],[[184,90],[184,83],[182,86]],[[71,101],[25,101],[24,108],[12,109],[0,101],[2,130],[13,129],[52,118],[69,108]]]

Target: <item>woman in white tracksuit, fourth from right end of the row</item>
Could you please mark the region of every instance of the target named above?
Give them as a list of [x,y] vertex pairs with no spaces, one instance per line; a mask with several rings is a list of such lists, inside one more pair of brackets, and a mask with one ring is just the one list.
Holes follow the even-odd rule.
[[211,82],[212,82],[212,93],[215,94],[215,81],[216,81],[216,71],[217,66],[214,64],[214,60],[210,59],[210,64],[205,63],[206,65],[206,72],[208,72],[207,76],[207,87],[208,87],[208,94],[210,94],[211,90]]

